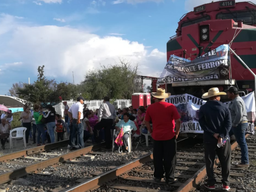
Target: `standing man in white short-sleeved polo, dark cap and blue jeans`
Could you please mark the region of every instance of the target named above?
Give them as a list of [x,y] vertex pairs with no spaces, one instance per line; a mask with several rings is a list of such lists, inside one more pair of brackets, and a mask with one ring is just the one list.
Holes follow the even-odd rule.
[[78,145],[79,148],[84,147],[84,125],[83,125],[83,103],[84,98],[82,96],[77,97],[77,102],[74,103],[69,109],[68,109],[68,116],[70,118],[70,124],[73,123],[73,130],[70,134],[71,135],[71,148],[76,149],[76,132],[78,135]]

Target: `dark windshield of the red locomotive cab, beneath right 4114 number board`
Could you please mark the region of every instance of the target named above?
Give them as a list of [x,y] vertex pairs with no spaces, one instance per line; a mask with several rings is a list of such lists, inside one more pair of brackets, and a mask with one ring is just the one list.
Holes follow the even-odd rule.
[[256,24],[256,11],[247,10],[243,12],[220,12],[216,15],[216,19],[233,19],[235,22],[244,20],[246,25]]

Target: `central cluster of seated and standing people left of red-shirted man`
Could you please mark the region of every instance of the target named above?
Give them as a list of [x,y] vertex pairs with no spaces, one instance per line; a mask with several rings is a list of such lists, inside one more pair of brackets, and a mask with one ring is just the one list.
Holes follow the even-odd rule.
[[[128,133],[132,131],[132,137],[140,137],[140,126],[145,125],[144,117],[146,109],[141,106],[138,110],[133,106],[129,108],[118,108],[110,104],[109,97],[104,97],[103,104],[95,112],[89,110],[84,104],[84,98],[78,97],[77,102],[72,106],[63,102],[65,111],[65,121],[68,125],[69,146],[72,149],[84,147],[84,142],[100,143],[105,141],[106,148],[112,148],[112,139],[116,139],[120,129],[124,130],[123,151],[128,152]],[[83,106],[84,104],[84,106]],[[147,108],[147,107],[146,107]],[[116,134],[111,136],[111,130],[116,129]],[[143,127],[143,132],[147,132]],[[115,149],[117,146],[115,144]]]

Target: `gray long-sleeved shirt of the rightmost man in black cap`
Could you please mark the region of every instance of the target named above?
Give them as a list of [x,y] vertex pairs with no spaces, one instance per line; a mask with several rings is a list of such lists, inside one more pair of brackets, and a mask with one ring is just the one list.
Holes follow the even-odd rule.
[[228,109],[230,110],[233,127],[237,127],[238,124],[248,121],[245,103],[240,96],[230,102]]

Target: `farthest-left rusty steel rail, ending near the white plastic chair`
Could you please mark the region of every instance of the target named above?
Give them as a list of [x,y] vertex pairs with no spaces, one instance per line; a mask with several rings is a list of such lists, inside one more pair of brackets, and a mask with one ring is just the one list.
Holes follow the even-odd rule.
[[20,158],[21,156],[32,155],[32,154],[36,154],[39,152],[44,152],[44,151],[47,151],[47,150],[50,150],[53,148],[58,148],[58,147],[64,146],[64,145],[68,145],[68,140],[63,140],[63,141],[59,141],[59,142],[55,142],[55,143],[51,143],[51,144],[47,144],[47,145],[41,145],[41,146],[34,147],[34,148],[28,148],[28,149],[24,149],[21,151],[8,153],[6,155],[0,156],[0,162],[10,161],[12,159]]

